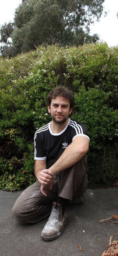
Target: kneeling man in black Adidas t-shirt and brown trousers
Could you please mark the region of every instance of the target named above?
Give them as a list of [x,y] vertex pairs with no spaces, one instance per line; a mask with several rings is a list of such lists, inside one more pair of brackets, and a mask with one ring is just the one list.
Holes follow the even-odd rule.
[[41,237],[53,240],[63,232],[66,206],[73,200],[78,203],[87,189],[89,137],[81,122],[70,119],[74,106],[70,90],[54,88],[47,102],[52,121],[37,130],[34,137],[37,181],[19,196],[12,216],[26,224],[50,215]]

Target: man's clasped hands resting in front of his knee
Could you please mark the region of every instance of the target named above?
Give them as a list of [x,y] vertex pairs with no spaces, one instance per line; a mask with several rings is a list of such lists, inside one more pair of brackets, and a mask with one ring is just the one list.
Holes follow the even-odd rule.
[[43,169],[42,171],[40,171],[39,176],[37,177],[38,182],[41,183],[41,192],[43,195],[47,196],[47,192],[45,189],[46,185],[49,185],[49,189],[52,189],[53,186],[53,172],[50,171],[50,169]]

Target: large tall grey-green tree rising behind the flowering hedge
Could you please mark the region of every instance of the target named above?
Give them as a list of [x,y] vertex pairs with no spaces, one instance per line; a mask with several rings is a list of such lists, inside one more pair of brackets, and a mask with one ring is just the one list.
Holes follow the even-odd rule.
[[89,25],[95,17],[96,20],[101,17],[103,3],[104,0],[22,1],[15,10],[12,47],[21,53],[41,44],[96,43],[99,36],[89,35]]

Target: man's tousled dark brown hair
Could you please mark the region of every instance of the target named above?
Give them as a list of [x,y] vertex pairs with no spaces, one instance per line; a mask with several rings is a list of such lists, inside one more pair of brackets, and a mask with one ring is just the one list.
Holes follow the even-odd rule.
[[48,95],[46,97],[48,106],[50,106],[52,99],[55,99],[58,96],[61,96],[63,99],[68,100],[70,103],[70,108],[74,107],[75,99],[74,99],[72,91],[70,91],[68,88],[65,88],[62,86],[55,87],[55,88],[53,88],[53,90],[50,91],[50,93],[48,93]]

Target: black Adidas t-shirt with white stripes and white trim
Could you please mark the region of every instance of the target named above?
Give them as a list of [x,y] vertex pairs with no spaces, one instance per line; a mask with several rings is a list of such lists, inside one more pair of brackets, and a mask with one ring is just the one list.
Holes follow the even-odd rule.
[[89,140],[86,127],[79,121],[69,118],[68,124],[60,133],[53,133],[51,122],[37,130],[34,137],[35,160],[45,160],[50,168],[63,153],[65,148],[77,136],[85,136]]

